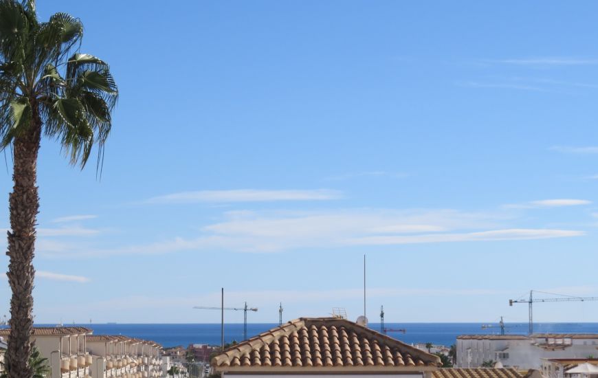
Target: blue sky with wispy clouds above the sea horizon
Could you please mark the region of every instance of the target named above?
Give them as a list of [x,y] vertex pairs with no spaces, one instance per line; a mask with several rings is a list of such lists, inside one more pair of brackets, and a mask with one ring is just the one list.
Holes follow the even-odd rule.
[[101,181],[43,143],[36,321],[218,322],[191,307],[222,286],[252,322],[353,319],[364,254],[370,320],[598,296],[598,3],[38,1],[57,11],[121,97]]

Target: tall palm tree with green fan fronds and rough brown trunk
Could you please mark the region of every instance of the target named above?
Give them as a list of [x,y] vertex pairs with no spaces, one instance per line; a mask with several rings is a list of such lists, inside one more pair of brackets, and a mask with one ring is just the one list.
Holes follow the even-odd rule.
[[41,137],[57,140],[70,163],[81,168],[97,144],[101,166],[118,98],[107,63],[76,50],[82,36],[81,21],[69,14],[56,13],[40,22],[34,0],[0,0],[0,150],[12,149],[14,182],[7,252],[11,378],[33,374],[28,357]]

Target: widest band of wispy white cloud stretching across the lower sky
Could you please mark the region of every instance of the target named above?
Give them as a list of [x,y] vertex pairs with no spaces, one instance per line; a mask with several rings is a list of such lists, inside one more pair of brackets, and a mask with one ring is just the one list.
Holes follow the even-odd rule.
[[50,245],[47,256],[167,254],[184,251],[268,253],[331,249],[353,245],[522,241],[582,236],[583,231],[508,227],[512,214],[456,210],[323,210],[319,212],[230,212],[224,221],[203,227],[195,237],[109,249]]

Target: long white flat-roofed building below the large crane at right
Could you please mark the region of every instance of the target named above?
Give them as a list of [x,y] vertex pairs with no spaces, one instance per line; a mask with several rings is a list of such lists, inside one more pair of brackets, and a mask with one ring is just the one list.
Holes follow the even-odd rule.
[[492,360],[505,368],[540,369],[542,359],[597,355],[598,334],[461,335],[456,348],[460,368],[478,368]]

